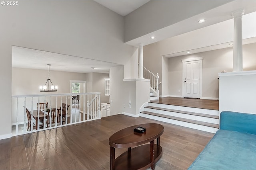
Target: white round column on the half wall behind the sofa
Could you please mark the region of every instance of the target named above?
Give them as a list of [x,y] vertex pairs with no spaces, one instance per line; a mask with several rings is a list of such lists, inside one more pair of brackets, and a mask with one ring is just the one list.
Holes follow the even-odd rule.
[[242,14],[244,10],[232,13],[234,17],[233,71],[243,70]]

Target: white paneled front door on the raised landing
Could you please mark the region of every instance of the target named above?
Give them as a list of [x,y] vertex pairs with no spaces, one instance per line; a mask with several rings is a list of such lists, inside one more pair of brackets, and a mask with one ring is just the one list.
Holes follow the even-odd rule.
[[200,98],[202,60],[182,61],[182,94],[185,98]]

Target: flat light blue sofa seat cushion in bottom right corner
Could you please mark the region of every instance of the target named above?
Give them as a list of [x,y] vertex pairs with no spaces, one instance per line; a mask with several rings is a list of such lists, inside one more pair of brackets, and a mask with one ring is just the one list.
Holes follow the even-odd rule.
[[256,135],[218,130],[188,170],[255,170]]

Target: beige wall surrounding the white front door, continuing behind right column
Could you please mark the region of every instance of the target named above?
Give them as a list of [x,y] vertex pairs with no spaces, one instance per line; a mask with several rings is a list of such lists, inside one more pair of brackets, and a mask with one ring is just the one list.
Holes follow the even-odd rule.
[[[256,43],[243,45],[244,70],[256,70]],[[219,98],[218,73],[232,71],[233,48],[218,49],[191,55],[169,58],[169,95],[182,96],[182,59],[203,57],[202,98]],[[180,90],[180,92],[178,92]]]

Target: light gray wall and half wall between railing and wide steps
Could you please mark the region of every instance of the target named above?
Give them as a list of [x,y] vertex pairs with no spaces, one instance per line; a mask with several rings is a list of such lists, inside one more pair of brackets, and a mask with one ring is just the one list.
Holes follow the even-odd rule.
[[110,115],[123,113],[136,117],[142,104],[148,102],[150,82],[138,79],[123,80],[123,70],[124,66],[110,68]]

